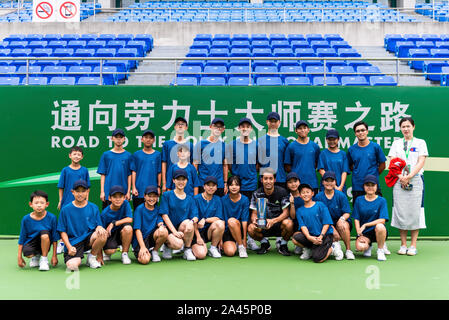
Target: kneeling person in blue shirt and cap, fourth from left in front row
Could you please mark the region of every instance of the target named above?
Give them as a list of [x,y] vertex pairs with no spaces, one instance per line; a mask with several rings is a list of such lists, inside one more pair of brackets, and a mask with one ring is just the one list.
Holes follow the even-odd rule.
[[[144,193],[144,204],[134,211],[134,256],[141,264],[151,261],[159,262],[158,250],[167,241],[168,231],[164,226],[164,220],[156,206],[159,199],[158,188],[148,186]],[[151,250],[151,255],[150,251]]]

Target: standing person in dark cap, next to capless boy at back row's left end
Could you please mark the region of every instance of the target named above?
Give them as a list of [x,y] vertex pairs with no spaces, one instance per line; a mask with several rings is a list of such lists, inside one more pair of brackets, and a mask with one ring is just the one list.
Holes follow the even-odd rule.
[[111,202],[107,199],[111,186],[122,186],[126,191],[125,199],[131,199],[131,153],[123,148],[125,143],[125,132],[122,129],[115,129],[112,132],[112,150],[101,155],[97,173],[100,177],[100,199],[103,202],[103,209]]

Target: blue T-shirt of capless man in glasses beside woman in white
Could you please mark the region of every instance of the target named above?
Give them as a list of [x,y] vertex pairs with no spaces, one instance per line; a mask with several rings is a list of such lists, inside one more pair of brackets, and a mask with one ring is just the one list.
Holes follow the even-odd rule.
[[379,165],[387,161],[382,148],[375,142],[365,147],[357,143],[348,149],[348,164],[352,169],[352,190],[363,191],[363,179],[369,174],[379,178]]

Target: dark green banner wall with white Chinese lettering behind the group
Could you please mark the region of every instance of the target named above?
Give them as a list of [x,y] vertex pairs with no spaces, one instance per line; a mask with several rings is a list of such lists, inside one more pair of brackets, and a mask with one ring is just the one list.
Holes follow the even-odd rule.
[[[81,164],[90,170],[90,201],[100,205],[99,176],[95,173],[101,154],[112,148],[115,128],[126,132],[126,150],[141,148],[143,130],[156,134],[155,149],[173,136],[176,117],[189,121],[193,142],[208,135],[211,119],[225,120],[225,139],[238,136],[238,120],[253,121],[254,137],[265,134],[266,115],[281,115],[280,133],[295,139],[295,123],[310,124],[310,137],[325,148],[325,133],[339,130],[340,147],[355,143],[352,126],[364,120],[370,137],[388,154],[401,137],[399,120],[411,115],[415,136],[425,139],[430,158],[425,173],[427,229],[421,235],[449,236],[449,178],[447,139],[443,130],[449,119],[449,95],[441,87],[0,87],[0,127],[4,153],[1,157],[0,199],[4,204],[0,234],[16,235],[21,218],[30,212],[29,195],[43,189],[50,196],[48,210],[56,215],[57,182],[61,169],[70,164],[68,150],[84,149]],[[438,159],[438,165],[435,161]],[[446,168],[446,169],[445,169]],[[391,208],[392,190],[381,176],[381,188]],[[350,187],[350,176],[347,186]],[[391,210],[390,210],[391,215]],[[389,223],[387,223],[389,225]],[[389,228],[390,235],[398,231]]]

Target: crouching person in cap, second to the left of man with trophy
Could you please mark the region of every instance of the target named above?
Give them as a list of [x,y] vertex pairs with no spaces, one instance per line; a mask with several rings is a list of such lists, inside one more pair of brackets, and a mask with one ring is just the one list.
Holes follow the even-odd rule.
[[[215,195],[218,180],[214,176],[204,178],[204,191],[194,197],[198,207],[198,223],[195,224],[192,251],[195,257],[204,259],[206,254],[221,258],[218,245],[225,230],[221,198]],[[209,253],[206,243],[210,242]]]

